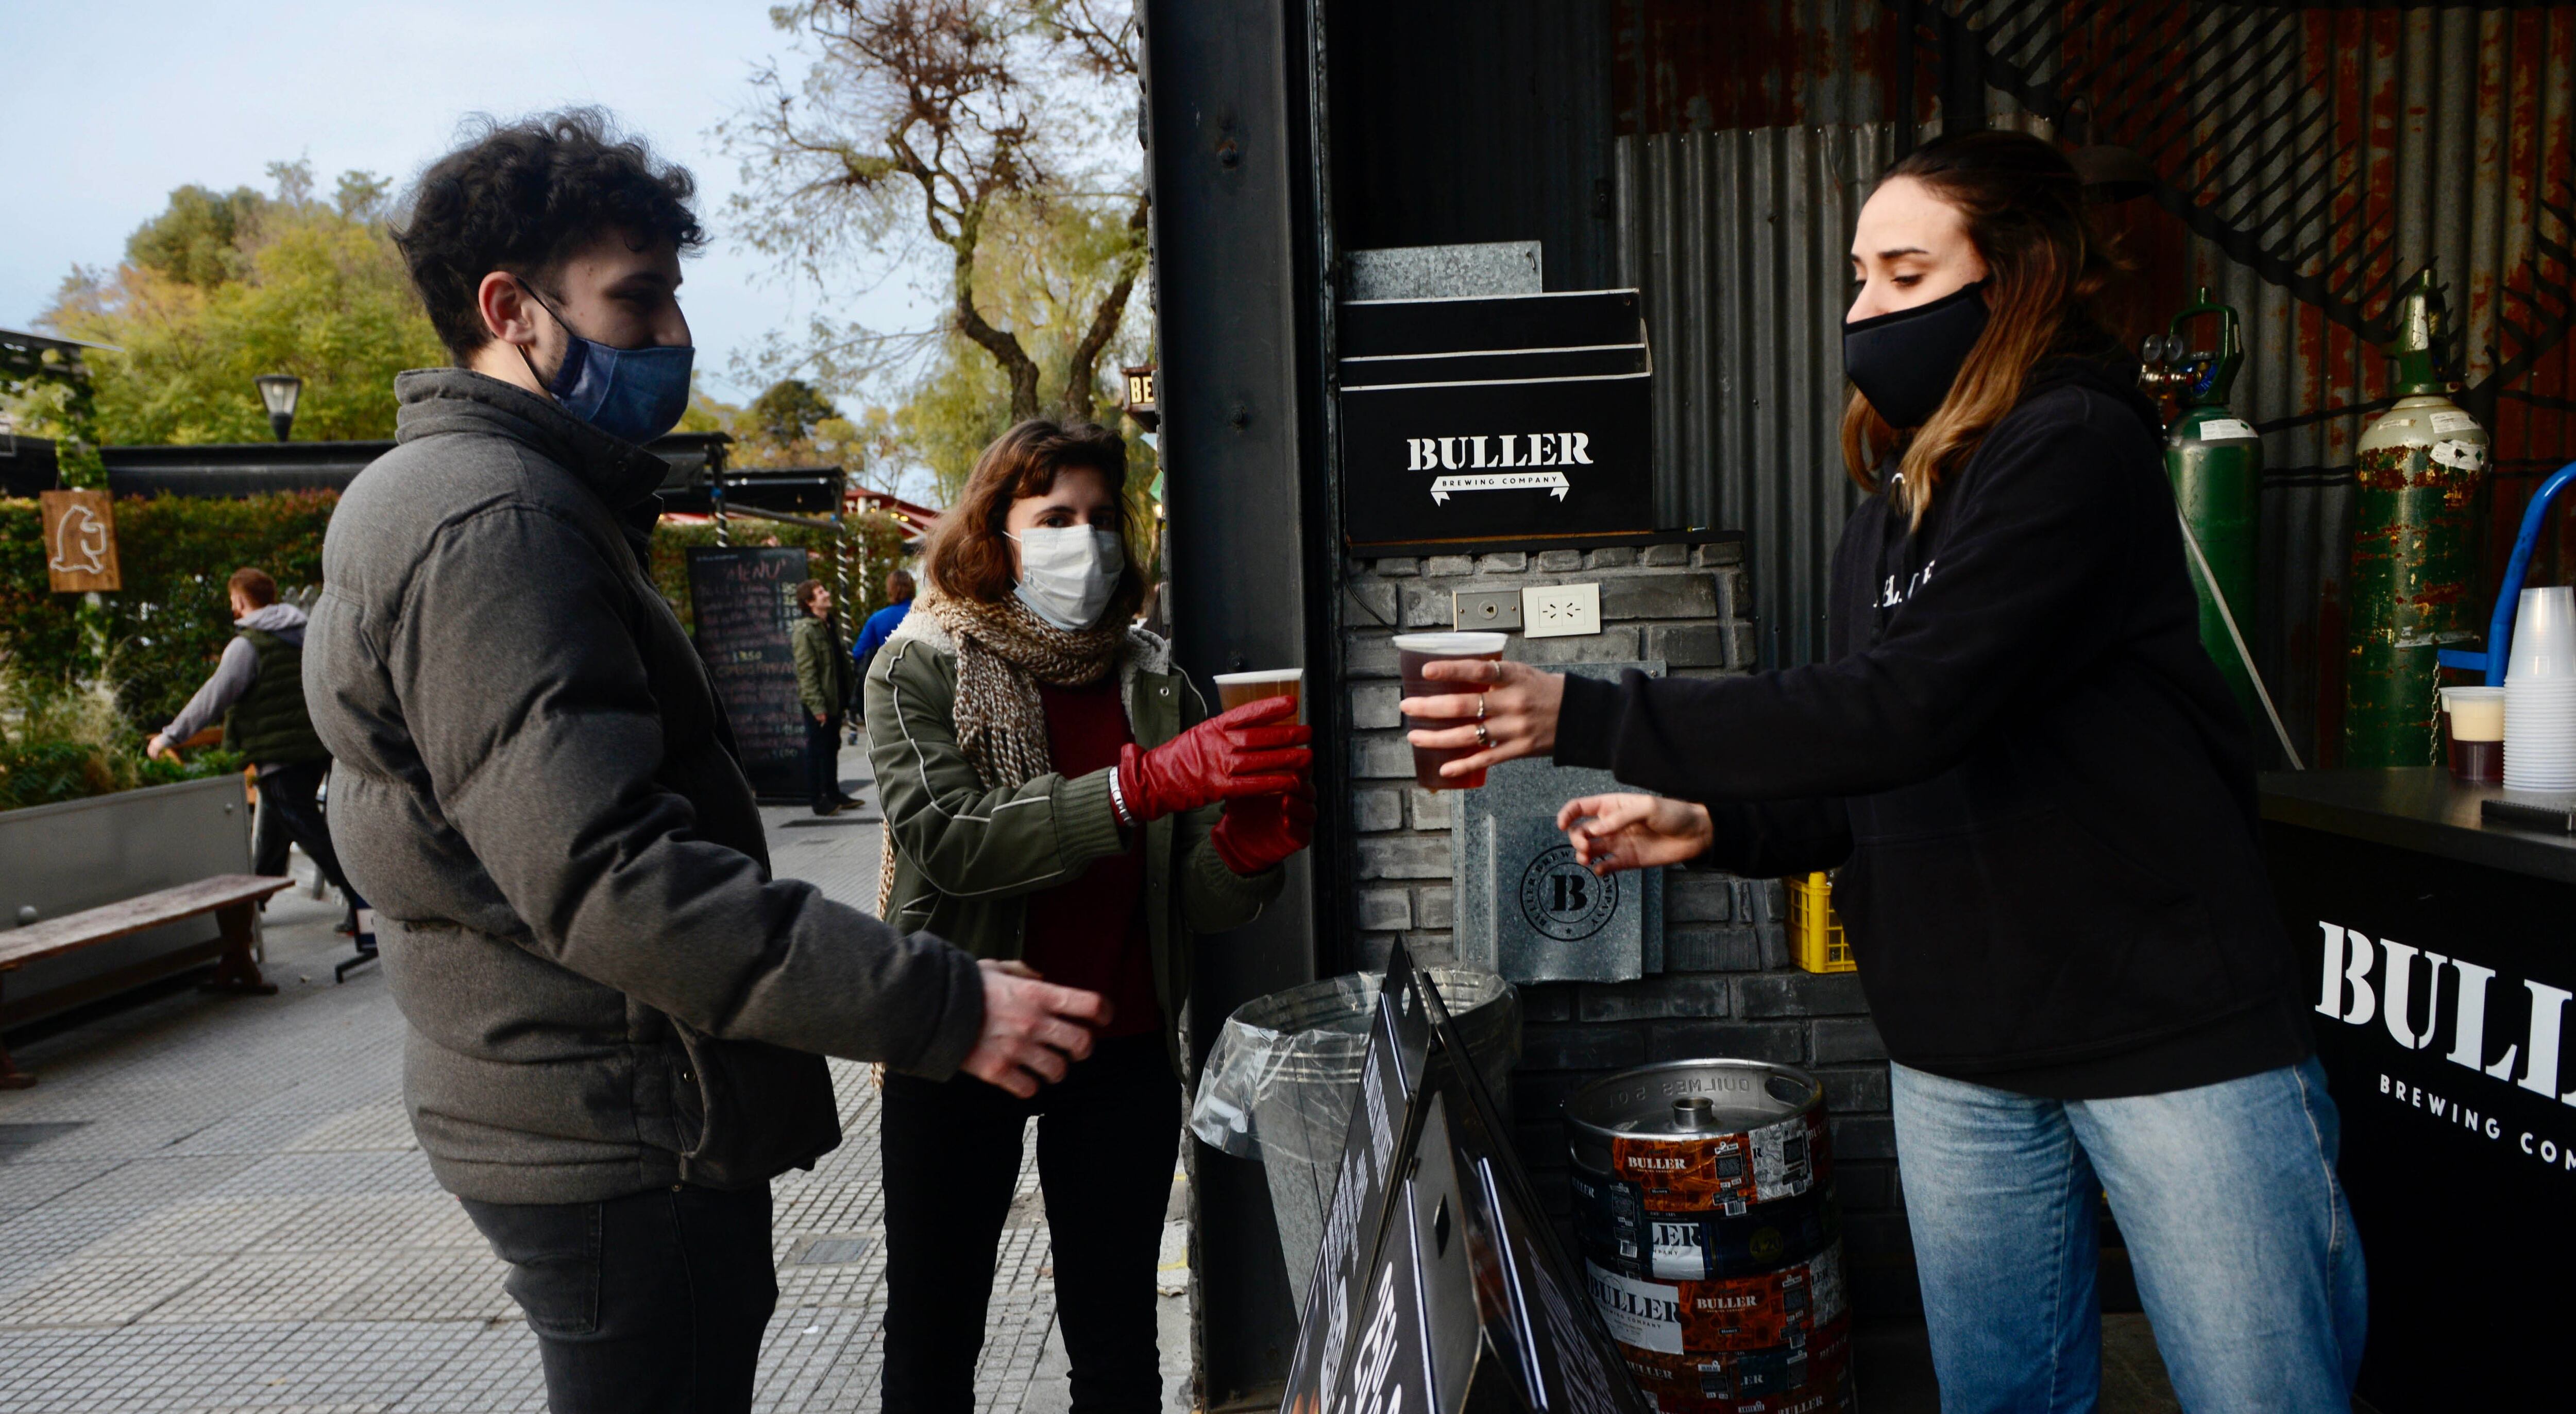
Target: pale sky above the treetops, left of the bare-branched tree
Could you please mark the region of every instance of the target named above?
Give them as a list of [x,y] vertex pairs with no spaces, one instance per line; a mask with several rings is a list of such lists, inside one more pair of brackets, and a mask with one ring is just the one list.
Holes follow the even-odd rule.
[[938,317],[920,276],[860,291],[853,270],[860,294],[819,296],[729,240],[737,173],[711,129],[770,57],[804,72],[788,39],[752,0],[0,0],[0,325],[31,327],[72,265],[113,265],[178,185],[268,191],[268,162],[309,157],[322,193],[348,167],[399,191],[466,113],[598,103],[698,175],[714,240],[680,304],[703,386],[742,402],[732,355],[819,299],[878,330]]

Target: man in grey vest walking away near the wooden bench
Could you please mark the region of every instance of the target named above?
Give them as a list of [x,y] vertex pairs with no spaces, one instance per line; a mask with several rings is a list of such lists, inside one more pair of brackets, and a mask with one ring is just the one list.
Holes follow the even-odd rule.
[[304,708],[304,610],[278,603],[278,582],[265,569],[234,569],[224,582],[232,600],[234,636],[214,665],[214,677],[178,708],[170,726],[144,742],[144,755],[178,760],[178,747],[224,724],[224,749],[242,752],[260,773],[260,814],[250,837],[250,873],[286,876],[289,842],[340,891],[348,919],[340,932],[358,930],[358,901],[340,878],[340,855],[330,847],[322,822],[322,778],[330,775],[330,749],[314,734]]

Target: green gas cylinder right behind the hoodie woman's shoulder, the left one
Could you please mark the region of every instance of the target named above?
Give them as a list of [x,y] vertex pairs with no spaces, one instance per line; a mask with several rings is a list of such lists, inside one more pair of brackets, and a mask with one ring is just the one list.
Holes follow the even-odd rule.
[[[2205,327],[2210,319],[2215,330]],[[2200,340],[2202,348],[2195,348],[2187,325],[2202,325],[2208,335]],[[2262,435],[2228,410],[2228,389],[2246,361],[2236,309],[2213,304],[2202,286],[2200,296],[2174,314],[2166,337],[2148,345],[2154,358],[2143,381],[2182,402],[2182,412],[2164,428],[2164,474],[2174,482],[2182,525],[2200,546],[2192,564],[2192,587],[2200,590],[2200,646],[2228,680],[2246,724],[2264,731],[2262,701],[2236,646],[2236,634],[2246,639],[2254,634],[2262,536]],[[2228,616],[2236,618],[2236,634],[2228,634]]]

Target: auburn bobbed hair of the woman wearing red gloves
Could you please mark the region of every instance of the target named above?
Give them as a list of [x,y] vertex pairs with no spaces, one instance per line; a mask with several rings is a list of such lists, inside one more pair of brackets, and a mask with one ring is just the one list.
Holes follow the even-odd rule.
[[1136,546],[1128,536],[1126,513],[1126,443],[1118,433],[1097,422],[1046,422],[1033,417],[1002,433],[976,456],[966,492],[940,513],[922,549],[922,574],[930,585],[961,600],[1002,603],[1020,585],[1010,572],[1010,536],[1002,520],[1010,502],[1043,497],[1056,489],[1064,471],[1090,469],[1110,487],[1110,505],[1118,507],[1118,541],[1126,546],[1126,569],[1118,574],[1118,592],[1100,623],[1126,623],[1144,603],[1144,574],[1136,572]]

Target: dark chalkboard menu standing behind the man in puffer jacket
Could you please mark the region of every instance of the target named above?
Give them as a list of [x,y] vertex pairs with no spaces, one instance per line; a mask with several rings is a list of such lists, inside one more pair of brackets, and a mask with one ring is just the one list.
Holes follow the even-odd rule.
[[796,546],[693,546],[688,598],[698,618],[698,657],[716,680],[716,706],[734,726],[742,773],[762,801],[811,801],[804,706],[796,701],[796,644],[804,616],[796,585],[806,551]]

